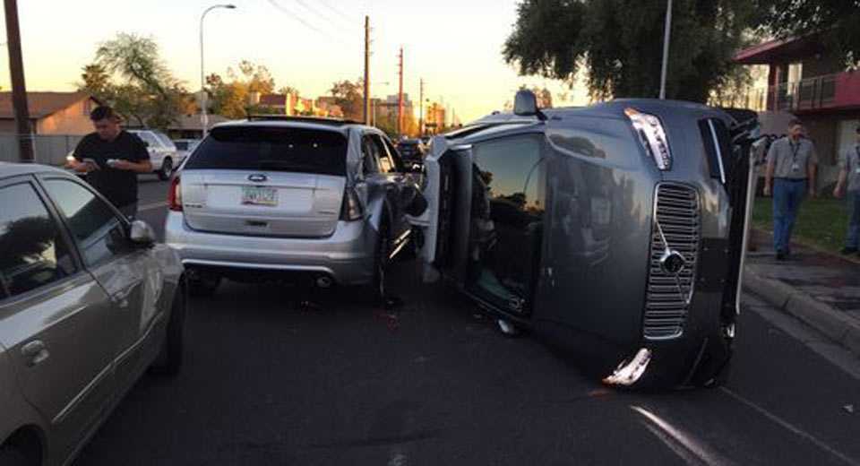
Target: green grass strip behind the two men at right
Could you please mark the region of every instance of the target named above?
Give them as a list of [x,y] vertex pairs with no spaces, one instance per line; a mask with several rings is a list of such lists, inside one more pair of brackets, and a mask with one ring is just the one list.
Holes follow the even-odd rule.
[[[773,231],[773,198],[755,199],[753,226]],[[848,217],[844,199],[806,198],[797,213],[792,241],[836,253],[844,246],[847,226]]]

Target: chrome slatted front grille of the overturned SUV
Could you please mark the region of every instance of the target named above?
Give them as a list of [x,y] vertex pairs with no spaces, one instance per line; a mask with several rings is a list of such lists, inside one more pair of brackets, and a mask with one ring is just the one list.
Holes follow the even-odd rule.
[[[690,186],[665,183],[658,185],[654,202],[644,334],[660,340],[684,332],[699,255],[699,194]],[[684,268],[677,275],[660,267],[667,249],[684,256]]]

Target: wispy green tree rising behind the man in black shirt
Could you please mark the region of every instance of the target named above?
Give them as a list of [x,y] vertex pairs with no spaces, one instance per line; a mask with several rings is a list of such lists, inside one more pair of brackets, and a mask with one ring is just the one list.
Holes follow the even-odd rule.
[[121,32],[101,43],[96,61],[82,71],[80,90],[137,125],[165,129],[193,107],[188,92],[163,64],[159,47],[150,38]]

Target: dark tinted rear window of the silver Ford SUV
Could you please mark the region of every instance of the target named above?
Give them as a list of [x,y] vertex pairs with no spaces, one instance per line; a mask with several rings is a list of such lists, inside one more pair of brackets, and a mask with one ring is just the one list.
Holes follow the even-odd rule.
[[211,131],[185,169],[346,174],[347,138],[307,128],[228,126]]

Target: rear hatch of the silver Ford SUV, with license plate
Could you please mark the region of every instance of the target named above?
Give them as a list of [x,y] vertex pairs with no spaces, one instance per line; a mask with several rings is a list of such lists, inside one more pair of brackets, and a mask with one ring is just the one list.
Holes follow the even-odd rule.
[[330,236],[340,219],[347,145],[334,130],[214,128],[182,171],[185,222],[236,235]]

